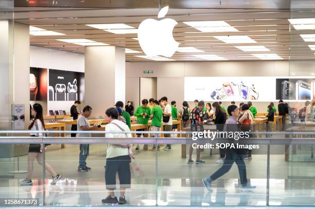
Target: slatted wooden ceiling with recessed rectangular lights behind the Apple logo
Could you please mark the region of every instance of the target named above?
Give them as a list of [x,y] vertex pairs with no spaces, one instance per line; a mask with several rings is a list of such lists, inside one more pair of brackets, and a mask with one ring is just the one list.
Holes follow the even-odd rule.
[[[156,1],[149,2],[153,5]],[[137,40],[137,28],[142,21],[158,20],[157,8],[19,7],[14,9],[14,21],[31,26],[31,45],[76,53],[84,53],[86,46],[115,45],[126,48],[126,61],[130,62],[315,59],[312,10],[290,11],[284,1],[277,0],[222,0],[236,9],[228,9],[226,4],[224,9],[206,6],[187,9],[195,8],[189,6],[189,1],[182,1],[187,6],[174,9],[171,4],[175,2],[180,1],[168,2],[170,9],[165,16],[178,22],[173,37],[180,45],[171,58],[146,56]],[[237,7],[236,2],[247,9]]]

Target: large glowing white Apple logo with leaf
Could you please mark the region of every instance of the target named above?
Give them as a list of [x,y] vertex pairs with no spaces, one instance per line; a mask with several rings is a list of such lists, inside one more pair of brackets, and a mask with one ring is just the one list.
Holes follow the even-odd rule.
[[[161,9],[158,18],[162,18],[168,12],[168,6]],[[173,28],[177,22],[166,18],[161,21],[153,19],[144,20],[138,28],[139,44],[147,56],[163,55],[171,57],[180,43],[173,37]]]

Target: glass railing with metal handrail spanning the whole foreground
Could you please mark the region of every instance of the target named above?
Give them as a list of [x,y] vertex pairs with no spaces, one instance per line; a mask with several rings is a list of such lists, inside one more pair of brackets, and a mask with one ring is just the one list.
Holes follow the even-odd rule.
[[[246,168],[237,157],[241,154],[246,157],[247,150],[225,149],[226,159],[219,162],[219,149],[205,147],[197,150],[190,149],[190,146],[194,143],[194,146],[211,146],[231,141],[204,137],[195,141],[191,139],[190,131],[131,131],[132,134],[149,136],[119,139],[104,138],[105,133],[110,133],[105,131],[91,131],[91,138],[53,137],[61,132],[69,135],[71,131],[44,132],[47,137],[25,137],[28,131],[0,131],[2,206],[9,203],[19,205],[19,200],[22,205],[31,200],[33,205],[47,206],[116,204],[115,198],[112,203],[102,203],[109,195],[108,188],[115,188],[117,201],[119,196],[125,196],[127,203],[124,205],[128,206],[310,206],[314,203],[315,132],[312,131],[287,128],[286,131],[252,132],[252,138],[238,141],[239,144],[259,145],[259,149],[252,150],[251,158],[244,159]],[[154,133],[171,134],[171,137],[150,136]],[[47,145],[42,153],[30,154],[29,144],[51,145]],[[79,165],[80,144],[90,144],[86,166],[91,170],[82,169],[84,151]],[[135,160],[129,163],[128,158],[113,157],[111,162],[107,161],[108,146],[114,144],[132,144]],[[167,144],[171,150],[164,150]],[[200,151],[199,161],[197,151]],[[126,153],[118,151],[114,154],[124,156]],[[230,165],[234,161],[229,159],[231,156],[235,159],[235,155],[238,155],[235,162],[240,166],[241,173],[236,163]],[[194,162],[188,163],[189,159]],[[222,166],[225,166],[224,169]],[[216,172],[219,168],[224,175]],[[54,182],[53,176],[57,174],[62,177]],[[27,176],[31,183],[21,185]],[[213,181],[211,186],[206,187],[203,179],[209,177]],[[249,189],[244,187],[246,181]],[[126,188],[125,195],[120,194],[124,191],[121,188]]]

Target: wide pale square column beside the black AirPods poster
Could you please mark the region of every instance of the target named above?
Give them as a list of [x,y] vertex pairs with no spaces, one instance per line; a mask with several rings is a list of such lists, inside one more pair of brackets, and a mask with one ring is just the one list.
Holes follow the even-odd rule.
[[125,102],[125,49],[115,46],[85,47],[84,105],[93,109],[91,118],[104,116],[116,101]]

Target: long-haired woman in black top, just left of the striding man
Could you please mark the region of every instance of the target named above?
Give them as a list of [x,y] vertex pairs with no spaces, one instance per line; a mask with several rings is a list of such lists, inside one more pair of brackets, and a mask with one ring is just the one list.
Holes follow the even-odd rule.
[[[215,112],[216,119],[214,120],[214,123],[217,126],[218,131],[223,131],[224,123],[226,120],[226,112],[222,109],[221,105],[218,102],[214,102],[212,104],[213,111]],[[223,159],[225,157],[225,151],[224,149],[220,150],[220,159],[216,161],[216,163],[223,163]]]

